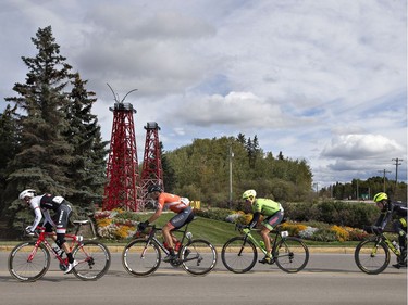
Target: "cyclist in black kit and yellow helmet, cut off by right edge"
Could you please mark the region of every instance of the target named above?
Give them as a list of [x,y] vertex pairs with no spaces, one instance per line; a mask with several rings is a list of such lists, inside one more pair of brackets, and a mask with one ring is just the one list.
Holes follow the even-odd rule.
[[397,264],[393,265],[395,268],[407,267],[407,207],[400,203],[392,202],[387,194],[380,192],[373,198],[376,206],[381,209],[379,219],[376,219],[373,227],[374,231],[383,231],[386,224],[392,219],[393,215],[397,219],[393,221],[393,230],[398,234],[400,257]]

